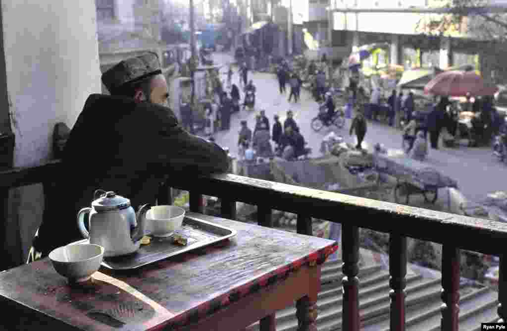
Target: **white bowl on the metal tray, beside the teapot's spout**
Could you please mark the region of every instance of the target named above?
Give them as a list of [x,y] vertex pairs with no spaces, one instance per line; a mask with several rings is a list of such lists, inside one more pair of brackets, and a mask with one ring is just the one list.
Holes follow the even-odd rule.
[[154,237],[169,237],[182,226],[185,209],[177,206],[153,206],[146,213],[146,227]]

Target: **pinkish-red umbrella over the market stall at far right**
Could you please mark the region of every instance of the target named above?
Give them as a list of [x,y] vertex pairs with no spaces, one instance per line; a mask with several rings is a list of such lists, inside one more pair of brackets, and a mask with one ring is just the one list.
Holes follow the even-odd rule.
[[[496,90],[495,90],[496,89]],[[438,74],[424,86],[424,93],[447,96],[491,95],[498,90],[487,86],[481,76],[471,71],[446,71]]]

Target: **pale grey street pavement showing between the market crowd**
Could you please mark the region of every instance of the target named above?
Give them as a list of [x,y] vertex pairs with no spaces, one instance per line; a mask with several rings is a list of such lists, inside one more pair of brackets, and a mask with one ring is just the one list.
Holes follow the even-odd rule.
[[[233,61],[233,57],[227,53],[214,53],[215,63],[226,64]],[[239,87],[239,76],[237,68],[233,69],[233,82]],[[226,80],[227,69],[221,70],[223,80]],[[318,157],[322,138],[335,131],[337,135],[343,136],[346,142],[354,143],[354,136],[348,135],[350,128],[350,119],[342,129],[335,126],[323,127],[318,133],[314,132],[310,126],[312,118],[317,115],[317,103],[311,97],[309,91],[302,89],[301,100],[299,103],[288,103],[289,88],[287,93],[280,95],[276,76],[270,73],[248,73],[248,80],[252,79],[257,87],[256,110],[241,110],[235,113],[231,118],[231,129],[228,131],[219,131],[214,135],[216,143],[221,146],[229,147],[233,155],[237,155],[237,141],[240,129],[240,121],[246,120],[248,127],[252,129],[255,126],[255,116],[259,110],[266,111],[270,125],[273,123],[273,116],[278,114],[280,121],[286,118],[286,111],[291,109],[294,112],[294,119],[301,129],[301,134],[308,142],[307,147],[311,147],[312,157]],[[241,94],[243,99],[243,93]],[[383,123],[368,122],[368,131],[363,142],[363,148],[372,151],[376,143],[384,144],[387,148],[400,149],[402,143],[402,133]],[[425,161],[428,167],[432,167],[442,174],[455,179],[461,193],[470,202],[480,202],[484,200],[488,193],[507,190],[507,167],[505,164],[495,159],[491,153],[491,148],[469,148],[461,146],[459,148],[440,147],[439,150],[429,149],[429,155]]]

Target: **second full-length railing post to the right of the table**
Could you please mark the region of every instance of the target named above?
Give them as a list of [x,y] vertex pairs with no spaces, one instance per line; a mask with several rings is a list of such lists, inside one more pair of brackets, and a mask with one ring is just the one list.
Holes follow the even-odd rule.
[[405,287],[407,281],[407,237],[389,236],[390,329],[405,331]]

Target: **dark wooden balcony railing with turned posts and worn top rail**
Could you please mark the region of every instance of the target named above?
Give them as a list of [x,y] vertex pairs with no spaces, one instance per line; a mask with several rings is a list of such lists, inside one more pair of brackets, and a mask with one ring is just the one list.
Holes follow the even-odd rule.
[[[4,192],[4,200],[5,191],[11,187],[50,182],[58,166],[58,162],[53,162],[0,173],[0,192]],[[312,217],[341,223],[345,330],[355,331],[360,325],[359,227],[390,234],[391,330],[405,329],[407,237],[443,244],[442,330],[458,329],[460,249],[500,256],[498,316],[500,322],[505,320],[507,263],[503,245],[507,242],[507,224],[230,174],[170,179],[162,193],[169,191],[168,185],[190,192],[193,212],[203,212],[205,194],[221,198],[221,212],[225,218],[235,218],[236,202],[257,205],[258,223],[262,226],[272,226],[272,210],[296,213],[297,231],[304,235],[311,235]],[[170,194],[159,195],[159,203],[170,203]],[[9,252],[4,252],[3,256],[6,254]]]

